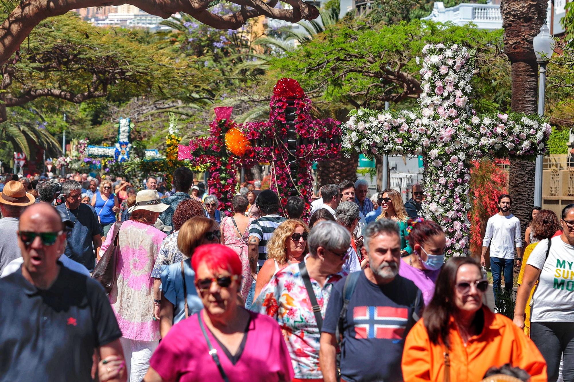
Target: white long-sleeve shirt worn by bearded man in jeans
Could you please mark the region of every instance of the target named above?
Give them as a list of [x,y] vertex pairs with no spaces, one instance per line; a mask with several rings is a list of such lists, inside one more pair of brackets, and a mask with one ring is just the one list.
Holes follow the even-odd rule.
[[491,216],[486,223],[483,247],[490,244],[490,257],[500,259],[514,259],[514,247],[522,248],[520,235],[520,220],[510,214],[509,216]]

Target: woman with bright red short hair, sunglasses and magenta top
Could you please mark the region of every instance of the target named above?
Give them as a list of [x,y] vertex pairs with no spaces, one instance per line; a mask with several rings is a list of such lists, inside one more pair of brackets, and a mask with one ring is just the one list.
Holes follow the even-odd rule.
[[277,322],[237,303],[242,266],[235,251],[201,245],[191,264],[204,308],[173,326],[144,381],[290,381],[293,368]]

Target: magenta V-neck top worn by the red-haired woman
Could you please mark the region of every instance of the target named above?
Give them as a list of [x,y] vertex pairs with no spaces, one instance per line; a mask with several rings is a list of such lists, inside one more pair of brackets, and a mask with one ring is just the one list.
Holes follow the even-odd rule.
[[[202,314],[201,319],[202,312],[199,313]],[[249,313],[251,320],[246,338],[235,356],[219,344],[204,321],[207,336],[217,350],[228,379],[230,382],[292,380],[291,358],[279,325],[266,315]],[[164,381],[223,381],[209,351],[197,314],[194,314],[169,330],[149,363]]]

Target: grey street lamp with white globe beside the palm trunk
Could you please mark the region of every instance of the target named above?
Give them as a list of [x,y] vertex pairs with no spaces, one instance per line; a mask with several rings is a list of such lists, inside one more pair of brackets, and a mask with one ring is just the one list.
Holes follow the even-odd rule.
[[[538,115],[544,115],[544,96],[546,92],[546,63],[554,52],[554,40],[546,21],[540,27],[540,33],[532,41],[536,61],[540,65],[540,81],[538,81]],[[542,206],[542,155],[536,157],[536,174],[534,175],[534,205]]]

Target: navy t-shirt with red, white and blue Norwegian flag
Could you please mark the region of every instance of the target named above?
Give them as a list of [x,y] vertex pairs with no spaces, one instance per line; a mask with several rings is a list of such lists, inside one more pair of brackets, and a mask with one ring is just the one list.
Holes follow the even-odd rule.
[[[335,334],[343,309],[346,278],[333,286],[322,331]],[[418,298],[417,298],[418,295]],[[343,320],[341,377],[347,382],[402,381],[405,337],[420,317],[424,301],[411,280],[395,276],[385,285],[370,282],[361,271]]]

